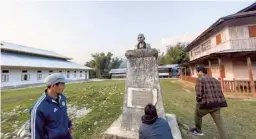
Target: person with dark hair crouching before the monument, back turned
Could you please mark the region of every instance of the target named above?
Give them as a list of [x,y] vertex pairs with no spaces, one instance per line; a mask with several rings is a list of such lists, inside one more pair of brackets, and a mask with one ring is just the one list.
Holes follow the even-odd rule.
[[173,139],[168,122],[158,118],[154,105],[148,104],[144,111],[145,115],[141,117],[142,125],[139,129],[140,139]]

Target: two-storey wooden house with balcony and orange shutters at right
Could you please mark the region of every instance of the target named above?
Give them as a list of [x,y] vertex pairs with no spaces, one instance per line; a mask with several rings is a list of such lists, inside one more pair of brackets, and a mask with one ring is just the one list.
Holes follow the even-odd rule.
[[225,92],[256,93],[256,3],[220,18],[185,49],[182,79],[195,82],[204,64]]

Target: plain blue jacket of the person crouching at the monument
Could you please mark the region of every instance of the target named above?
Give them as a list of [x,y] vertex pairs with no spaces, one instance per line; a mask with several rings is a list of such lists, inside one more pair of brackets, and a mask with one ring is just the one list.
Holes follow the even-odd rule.
[[153,124],[144,124],[139,129],[140,139],[173,139],[168,122],[158,118]]

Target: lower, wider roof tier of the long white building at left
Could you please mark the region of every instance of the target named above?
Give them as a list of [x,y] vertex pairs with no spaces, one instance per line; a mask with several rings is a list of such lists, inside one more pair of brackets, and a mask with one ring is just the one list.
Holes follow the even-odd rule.
[[1,66],[60,69],[91,69],[67,60],[1,52]]

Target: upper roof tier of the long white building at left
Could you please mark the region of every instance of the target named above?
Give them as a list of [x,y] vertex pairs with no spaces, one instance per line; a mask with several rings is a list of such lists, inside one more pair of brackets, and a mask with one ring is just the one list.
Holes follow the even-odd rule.
[[56,57],[56,58],[62,58],[62,59],[71,59],[66,56],[60,55],[58,53],[43,50],[43,49],[17,45],[17,44],[12,44],[12,43],[3,42],[3,41],[1,41],[0,44],[1,44],[1,49],[4,49],[4,50],[23,52],[23,53],[29,53],[29,54],[37,54],[42,56],[50,56],[50,57]]

